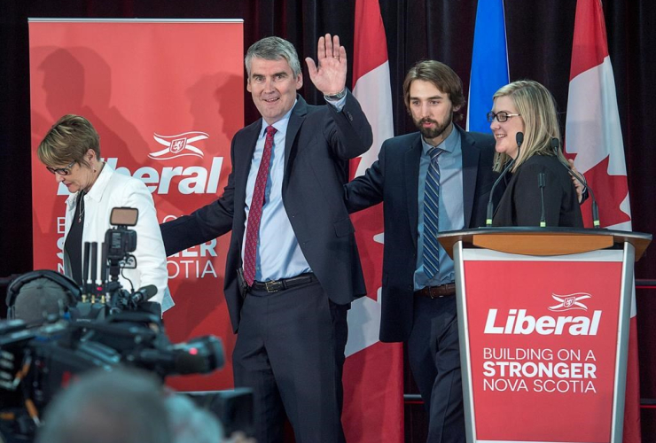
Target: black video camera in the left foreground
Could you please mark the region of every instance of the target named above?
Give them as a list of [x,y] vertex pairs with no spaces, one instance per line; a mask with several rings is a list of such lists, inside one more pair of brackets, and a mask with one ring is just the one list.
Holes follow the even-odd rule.
[[[39,416],[53,396],[89,369],[127,365],[151,370],[163,381],[168,376],[207,374],[223,367],[219,338],[169,341],[159,313],[143,308],[157,292],[155,286],[131,292],[121,288],[121,268],[137,266],[130,254],[137,247],[137,232],[129,229],[137,218],[137,209],[113,209],[114,227],[105,233],[99,282],[98,245],[85,244],[82,289],[54,271],[34,271],[10,285],[10,320],[0,322],[0,441],[31,441]],[[35,279],[59,285],[61,296],[54,304],[59,312],[39,312],[42,322],[38,325],[11,319],[20,290]],[[44,294],[34,286],[30,291],[35,298],[27,305],[43,309],[39,299]]]

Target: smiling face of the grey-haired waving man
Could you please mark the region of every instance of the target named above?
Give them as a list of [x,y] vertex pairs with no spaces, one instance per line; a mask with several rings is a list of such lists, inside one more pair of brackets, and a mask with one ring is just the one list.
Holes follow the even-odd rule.
[[246,89],[253,96],[264,121],[272,125],[292,109],[296,90],[303,86],[303,76],[294,77],[285,58],[266,60],[254,57],[250,72]]

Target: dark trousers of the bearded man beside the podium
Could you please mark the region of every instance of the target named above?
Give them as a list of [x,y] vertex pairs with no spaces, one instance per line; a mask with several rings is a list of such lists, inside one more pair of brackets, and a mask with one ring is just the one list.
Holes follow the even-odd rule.
[[428,413],[428,443],[464,443],[456,296],[415,295],[408,339],[410,369]]

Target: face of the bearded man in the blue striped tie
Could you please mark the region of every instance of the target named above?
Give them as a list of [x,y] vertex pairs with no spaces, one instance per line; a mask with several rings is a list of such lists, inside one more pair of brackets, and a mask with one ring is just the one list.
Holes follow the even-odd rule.
[[441,144],[451,132],[454,109],[449,94],[432,82],[414,80],[410,84],[409,105],[412,120],[426,143]]

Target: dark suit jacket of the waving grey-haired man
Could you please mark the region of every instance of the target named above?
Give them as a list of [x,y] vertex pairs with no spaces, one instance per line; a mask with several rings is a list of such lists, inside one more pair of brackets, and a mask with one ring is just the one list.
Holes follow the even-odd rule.
[[[221,198],[161,225],[167,255],[232,230],[223,289],[235,332],[243,303],[237,271],[246,230],[246,180],[261,128],[262,119],[232,138],[232,171]],[[372,138],[371,126],[350,92],[340,113],[329,105],[308,105],[298,96],[285,136],[285,212],[317,280],[341,305],[366,293],[342,186],[348,181],[348,159],[366,152]]]

